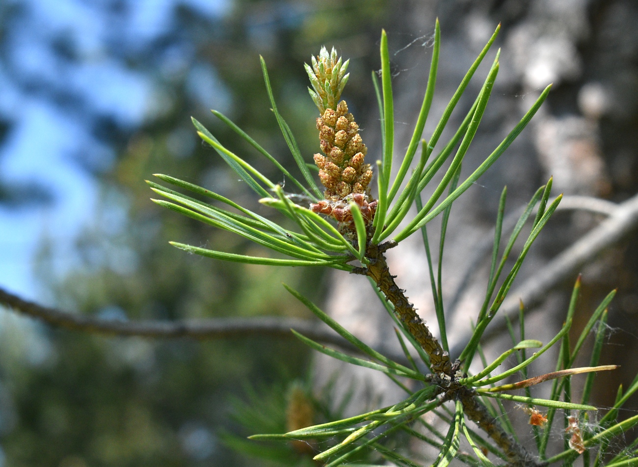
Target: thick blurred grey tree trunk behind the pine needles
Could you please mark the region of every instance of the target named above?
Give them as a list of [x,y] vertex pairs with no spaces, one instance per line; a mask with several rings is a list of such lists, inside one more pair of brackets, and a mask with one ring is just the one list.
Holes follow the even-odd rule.
[[[469,92],[461,99],[450,119],[449,128],[457,128],[463,118],[461,115],[467,112],[479,92],[496,49],[502,47],[500,73],[479,133],[465,158],[461,179],[493,151],[542,89],[550,82],[554,83],[548,100],[531,124],[500,161],[454,204],[443,263],[443,302],[449,304],[477,242],[491,235],[489,232],[496,219],[498,199],[506,184],[506,215],[526,204],[538,186],[551,175],[554,176],[553,195],[563,192],[620,202],[636,192],[638,5],[629,0],[415,1],[405,5],[405,9],[397,8],[400,15],[397,13],[386,28],[395,74],[396,154],[402,154],[407,147],[419,112],[431,59],[429,39],[437,16],[441,21],[440,64],[436,96],[424,137],[431,135],[464,73],[498,22],[502,23],[493,50],[475,74]],[[411,45],[406,47],[408,44]],[[369,158],[373,161],[380,154],[378,114],[373,112],[367,121],[358,118],[365,123],[362,136],[371,149]],[[434,154],[443,147],[451,133],[443,134]],[[583,212],[556,213],[527,256],[514,288],[597,225],[598,221],[600,219],[596,216]],[[428,225],[434,258],[438,256],[439,230],[440,219]],[[503,233],[507,239],[505,235],[508,233]],[[621,346],[608,346],[600,364],[613,362],[621,364],[622,368],[598,380],[595,403],[600,405],[610,405],[618,384],[624,382],[627,385],[638,371],[638,341],[635,339],[635,316],[638,312],[636,238],[634,234],[582,271],[581,300],[572,327],[572,339],[580,334],[604,295],[612,288],[619,288],[610,308],[609,324],[624,330],[612,336],[614,343]],[[516,256],[517,252],[512,256]],[[388,262],[392,274],[397,275],[399,286],[407,290],[406,294],[419,309],[419,314],[434,334],[438,334],[420,235],[415,234],[399,247],[391,249]],[[486,258],[482,267],[471,276],[464,293],[459,295],[457,305],[453,309],[446,308],[450,347],[454,347],[459,334],[455,330],[470,327],[470,320],[477,316],[488,269],[489,259]],[[575,276],[567,278],[565,283],[547,295],[541,306],[530,310],[526,337],[545,343],[553,337],[565,318],[575,279]],[[366,343],[401,352],[392,323],[366,278],[334,272],[330,283],[326,308],[334,318]],[[487,346],[487,359],[496,357],[510,346],[506,332]],[[555,350],[540,359],[533,374],[553,371],[558,349]],[[586,358],[577,362],[576,366],[588,364],[589,356],[583,352],[583,357]],[[352,410],[359,410],[363,404],[389,404],[403,396],[402,391],[385,376],[327,357],[317,357],[318,385],[335,373],[343,392],[357,382],[358,392],[353,399],[357,407]],[[574,380],[578,390],[584,378],[576,377]],[[533,394],[547,396],[549,387],[551,385],[542,385],[533,390]],[[521,411],[519,418],[523,417]]]

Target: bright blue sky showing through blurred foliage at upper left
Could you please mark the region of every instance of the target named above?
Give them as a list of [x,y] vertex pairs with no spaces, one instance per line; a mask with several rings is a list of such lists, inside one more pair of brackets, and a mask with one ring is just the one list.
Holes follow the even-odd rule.
[[[171,26],[176,4],[186,4],[205,16],[223,16],[231,0],[136,0],[118,34],[127,43],[144,43]],[[19,19],[7,33],[8,60],[0,64],[0,115],[13,121],[0,147],[0,177],[6,184],[38,182],[53,195],[39,207],[0,207],[0,285],[29,299],[47,301],[46,291],[33,275],[33,259],[43,236],[54,243],[56,267],[73,263],[73,239],[91,219],[98,200],[93,176],[78,165],[78,151],[108,166],[113,154],[93,139],[78,115],[65,112],[47,98],[23,92],[10,73],[37,77],[60,89],[80,94],[87,107],[114,117],[131,128],[158,108],[158,92],[151,78],[124,68],[108,56],[105,41],[113,34],[96,6],[78,0],[27,0]],[[99,4],[99,2],[96,2]],[[50,37],[64,31],[72,36],[81,57],[70,69],[56,59]],[[179,58],[179,56],[177,57]],[[195,92],[214,98],[214,70],[200,66],[191,79]],[[223,107],[223,105],[222,105]]]

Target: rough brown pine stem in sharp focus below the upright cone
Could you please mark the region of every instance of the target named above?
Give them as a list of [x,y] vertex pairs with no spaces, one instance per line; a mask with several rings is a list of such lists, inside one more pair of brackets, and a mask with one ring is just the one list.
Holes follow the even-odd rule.
[[408,331],[423,350],[426,351],[430,358],[430,366],[435,375],[434,378],[445,381],[444,385],[447,392],[445,398],[459,399],[463,403],[464,412],[468,419],[475,422],[503,449],[512,466],[543,467],[547,465],[547,463],[542,463],[534,456],[531,456],[521,444],[517,443],[511,434],[503,429],[498,420],[489,414],[487,408],[479,401],[472,389],[457,382],[457,366],[452,364],[449,354],[443,350],[436,337],[427,328],[426,323],[417,315],[413,304],[404,295],[404,290],[401,290],[396,285],[394,282],[396,276],[390,274],[383,252],[388,248],[392,248],[392,246],[394,245],[369,246],[366,256],[369,258],[370,263],[367,267],[355,268],[353,272],[365,274],[374,279],[378,288],[394,305],[394,311],[399,319],[406,325]]

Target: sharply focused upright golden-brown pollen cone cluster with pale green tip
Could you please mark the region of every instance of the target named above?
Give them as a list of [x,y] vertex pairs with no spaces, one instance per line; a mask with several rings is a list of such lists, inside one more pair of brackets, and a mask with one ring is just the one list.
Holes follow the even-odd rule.
[[348,81],[348,62],[342,64],[334,48],[329,54],[323,47],[318,57],[312,57],[312,67],[306,64],[313,85],[313,89],[308,91],[321,113],[317,119],[317,130],[323,154],[315,154],[314,159],[319,168],[319,179],[325,186],[325,200],[310,207],[340,223],[352,224],[352,201],[359,205],[369,224],[375,215],[377,202],[369,196],[372,170],[364,161],[367,148],[359,135],[359,125],[348,112],[346,101],[339,101]]

